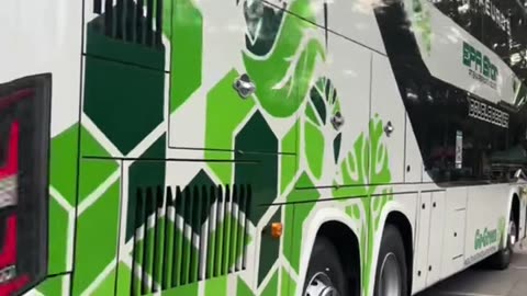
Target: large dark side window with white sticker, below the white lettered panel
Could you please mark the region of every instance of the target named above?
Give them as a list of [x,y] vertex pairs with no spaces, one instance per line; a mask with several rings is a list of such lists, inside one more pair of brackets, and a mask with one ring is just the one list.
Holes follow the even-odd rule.
[[522,157],[527,160],[515,155],[525,149],[525,114],[433,77],[401,81],[425,170],[434,181],[503,182],[509,169],[522,166]]

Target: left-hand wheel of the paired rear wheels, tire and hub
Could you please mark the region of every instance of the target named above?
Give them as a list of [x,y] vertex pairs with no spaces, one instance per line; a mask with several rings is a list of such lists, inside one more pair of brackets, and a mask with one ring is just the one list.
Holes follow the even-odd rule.
[[347,283],[337,249],[325,237],[316,238],[304,283],[304,296],[347,296]]

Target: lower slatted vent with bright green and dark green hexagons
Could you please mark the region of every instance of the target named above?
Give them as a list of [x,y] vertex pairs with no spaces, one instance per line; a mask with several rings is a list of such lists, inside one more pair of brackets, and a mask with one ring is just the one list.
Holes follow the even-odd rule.
[[139,187],[136,197],[134,295],[245,270],[250,185]]

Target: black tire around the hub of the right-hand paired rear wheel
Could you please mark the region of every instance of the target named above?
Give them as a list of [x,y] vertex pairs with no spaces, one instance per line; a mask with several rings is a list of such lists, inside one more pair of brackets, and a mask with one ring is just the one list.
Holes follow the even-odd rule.
[[381,267],[384,259],[389,254],[394,254],[396,262],[399,263],[400,272],[400,295],[406,296],[408,294],[407,285],[407,266],[406,266],[406,253],[404,251],[403,238],[399,229],[393,225],[386,225],[384,232],[382,234],[381,249],[379,250],[379,260],[377,261],[375,270],[375,286],[373,289],[374,296],[383,296],[380,287],[381,283]]

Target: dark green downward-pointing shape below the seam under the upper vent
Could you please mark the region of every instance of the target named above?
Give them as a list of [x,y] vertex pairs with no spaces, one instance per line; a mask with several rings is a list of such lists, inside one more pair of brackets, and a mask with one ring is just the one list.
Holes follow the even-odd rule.
[[123,155],[162,122],[164,89],[162,71],[87,57],[83,111]]

